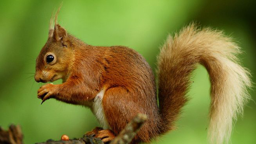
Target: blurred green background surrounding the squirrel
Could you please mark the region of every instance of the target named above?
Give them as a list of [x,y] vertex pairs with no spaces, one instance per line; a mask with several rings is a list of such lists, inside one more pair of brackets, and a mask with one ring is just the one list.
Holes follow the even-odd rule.
[[[47,40],[48,23],[60,0],[0,1],[0,125],[20,124],[25,144],[62,134],[81,137],[99,125],[92,112],[81,106],[56,100],[41,105],[34,81],[35,59]],[[71,34],[92,45],[125,45],[141,53],[155,70],[158,47],[168,33],[173,34],[191,21],[224,30],[243,48],[239,57],[254,76],[255,3],[234,0],[99,0],[64,1],[59,23]],[[252,78],[255,82],[255,78]],[[178,129],[153,143],[208,143],[210,83],[199,66],[192,78],[191,97],[178,121]],[[55,84],[61,81],[54,82]],[[233,144],[256,143],[255,92],[243,118],[236,122]]]

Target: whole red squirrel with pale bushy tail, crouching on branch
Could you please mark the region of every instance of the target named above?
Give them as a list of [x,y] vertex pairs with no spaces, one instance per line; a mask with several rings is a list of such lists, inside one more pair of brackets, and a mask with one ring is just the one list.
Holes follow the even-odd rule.
[[[45,84],[37,97],[54,98],[92,110],[102,128],[87,135],[113,140],[138,113],[148,116],[132,144],[149,142],[175,129],[188,101],[191,72],[203,65],[211,82],[208,136],[211,143],[228,142],[232,122],[249,99],[250,73],[239,65],[240,48],[223,32],[190,24],[169,36],[157,57],[157,84],[147,61],[125,46],[93,46],[50,20],[48,40],[36,59],[36,82]],[[157,87],[156,87],[157,85]],[[157,95],[158,89],[158,95]],[[157,102],[159,99],[159,103]]]

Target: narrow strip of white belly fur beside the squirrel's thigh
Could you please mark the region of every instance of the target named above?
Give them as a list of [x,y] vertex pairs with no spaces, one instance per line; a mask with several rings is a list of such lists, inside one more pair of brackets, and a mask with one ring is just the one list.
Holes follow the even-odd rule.
[[103,106],[102,106],[102,99],[103,99],[104,93],[105,93],[105,90],[101,90],[96,95],[92,104],[92,111],[96,116],[96,118],[98,119],[98,121],[100,122],[100,126],[103,129],[110,129],[104,110],[103,110]]

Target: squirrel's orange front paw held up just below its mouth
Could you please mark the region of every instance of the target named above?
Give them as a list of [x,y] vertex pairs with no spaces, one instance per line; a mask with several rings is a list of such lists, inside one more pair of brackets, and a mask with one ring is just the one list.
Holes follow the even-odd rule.
[[42,99],[43,100],[42,103],[45,100],[53,98],[54,97],[53,91],[55,90],[55,87],[56,85],[54,84],[45,84],[41,86],[37,91],[37,98]]

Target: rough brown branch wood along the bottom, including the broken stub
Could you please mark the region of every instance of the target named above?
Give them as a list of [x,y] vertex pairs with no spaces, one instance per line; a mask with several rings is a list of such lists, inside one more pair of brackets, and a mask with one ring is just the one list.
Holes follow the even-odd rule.
[[[147,120],[147,116],[144,114],[138,114],[129,122],[124,130],[120,132],[110,144],[129,144],[134,136],[139,131],[140,127]],[[20,126],[11,125],[9,130],[4,131],[0,127],[0,144],[23,144],[23,135]],[[52,139],[46,142],[36,143],[36,144],[104,144],[99,138],[85,136],[78,139],[70,139],[67,141],[59,140],[54,141]]]

